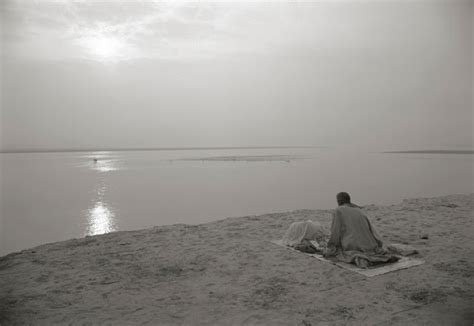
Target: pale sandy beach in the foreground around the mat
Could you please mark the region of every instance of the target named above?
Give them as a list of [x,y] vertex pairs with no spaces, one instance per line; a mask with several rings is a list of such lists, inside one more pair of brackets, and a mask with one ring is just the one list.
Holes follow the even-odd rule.
[[[421,266],[373,278],[275,246],[330,210],[46,244],[0,258],[1,325],[472,325],[474,195],[365,206]],[[427,235],[428,239],[422,239]]]

